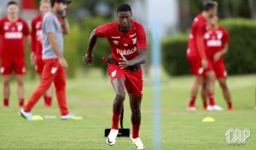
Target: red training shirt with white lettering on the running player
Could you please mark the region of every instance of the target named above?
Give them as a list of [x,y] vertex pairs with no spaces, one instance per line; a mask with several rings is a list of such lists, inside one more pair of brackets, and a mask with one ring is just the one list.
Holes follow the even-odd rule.
[[137,49],[147,49],[147,39],[144,27],[132,20],[131,30],[125,35],[119,31],[119,22],[108,23],[96,27],[96,36],[108,39],[111,46],[111,56],[120,61],[121,55],[127,60],[137,57]]

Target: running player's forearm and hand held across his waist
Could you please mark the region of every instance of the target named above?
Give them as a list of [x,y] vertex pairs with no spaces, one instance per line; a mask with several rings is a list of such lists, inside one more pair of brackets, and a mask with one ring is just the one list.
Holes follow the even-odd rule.
[[138,49],[137,52],[139,55],[130,61],[126,60],[124,55],[121,55],[122,58],[120,60],[122,62],[119,62],[119,66],[121,66],[121,68],[126,68],[128,66],[141,65],[141,64],[146,63],[147,50],[146,49]]

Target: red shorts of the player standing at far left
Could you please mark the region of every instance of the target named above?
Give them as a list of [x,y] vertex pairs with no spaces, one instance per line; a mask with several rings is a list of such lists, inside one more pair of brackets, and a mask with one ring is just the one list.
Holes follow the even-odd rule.
[[26,61],[24,58],[2,59],[0,73],[3,75],[9,75],[15,71],[17,75],[23,75],[26,73]]

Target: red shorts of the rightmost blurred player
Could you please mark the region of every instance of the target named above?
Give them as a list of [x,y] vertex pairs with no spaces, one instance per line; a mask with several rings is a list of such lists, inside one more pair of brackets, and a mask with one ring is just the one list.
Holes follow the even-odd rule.
[[226,71],[226,67],[224,65],[223,60],[219,60],[213,63],[213,70],[215,72],[216,78],[227,78],[228,73]]

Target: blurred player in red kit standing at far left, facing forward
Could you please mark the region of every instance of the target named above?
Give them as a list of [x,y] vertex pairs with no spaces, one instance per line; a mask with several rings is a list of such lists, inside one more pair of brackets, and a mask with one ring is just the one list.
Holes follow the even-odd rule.
[[7,17],[0,22],[1,68],[3,75],[3,106],[9,107],[10,75],[15,71],[20,107],[24,104],[24,79],[26,73],[24,38],[30,42],[29,29],[25,20],[18,16],[19,6],[15,1],[7,4]]

